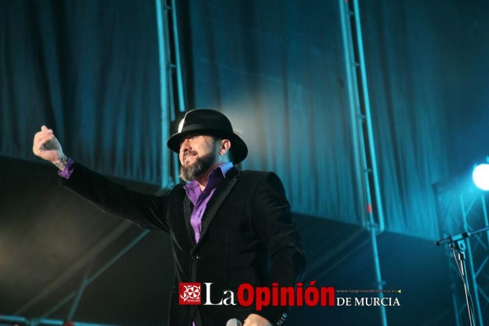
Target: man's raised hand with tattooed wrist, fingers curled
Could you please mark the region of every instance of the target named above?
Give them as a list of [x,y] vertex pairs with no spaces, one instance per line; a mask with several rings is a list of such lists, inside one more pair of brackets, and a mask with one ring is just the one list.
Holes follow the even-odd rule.
[[32,152],[40,158],[56,165],[60,170],[64,169],[68,161],[59,141],[54,137],[52,129],[46,126],[41,127],[41,131],[34,135]]

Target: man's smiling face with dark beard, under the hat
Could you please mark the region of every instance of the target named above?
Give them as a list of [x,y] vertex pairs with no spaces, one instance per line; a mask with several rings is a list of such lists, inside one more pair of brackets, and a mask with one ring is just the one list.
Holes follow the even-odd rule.
[[217,159],[216,140],[212,136],[190,134],[180,144],[180,178],[195,180],[207,171]]

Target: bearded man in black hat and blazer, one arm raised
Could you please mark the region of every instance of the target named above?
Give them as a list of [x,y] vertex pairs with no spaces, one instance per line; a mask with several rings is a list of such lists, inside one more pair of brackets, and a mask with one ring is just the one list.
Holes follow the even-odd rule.
[[178,153],[186,183],[163,196],[130,190],[67,158],[45,126],[34,137],[33,152],[59,168],[62,186],[100,209],[141,228],[170,233],[175,284],[169,326],[224,326],[234,318],[244,326],[285,325],[287,306],[269,304],[258,311],[239,303],[179,304],[181,282],[212,283],[212,303],[221,302],[225,291],[236,294],[242,283],[294,286],[304,275],[306,258],[277,175],[234,167],[248,149],[226,116],[189,111],[167,145]]

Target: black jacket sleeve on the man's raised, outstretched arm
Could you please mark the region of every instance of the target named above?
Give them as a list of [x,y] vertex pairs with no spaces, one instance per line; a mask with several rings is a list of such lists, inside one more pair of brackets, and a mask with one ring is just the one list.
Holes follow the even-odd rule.
[[61,185],[82,196],[111,215],[129,220],[143,229],[169,232],[168,196],[155,196],[133,191],[75,163],[68,179]]

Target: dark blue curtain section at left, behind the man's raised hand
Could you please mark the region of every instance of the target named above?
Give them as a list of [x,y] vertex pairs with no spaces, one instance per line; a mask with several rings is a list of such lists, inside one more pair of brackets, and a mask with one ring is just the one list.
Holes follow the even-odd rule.
[[73,159],[161,184],[154,1],[1,1],[0,53],[1,155],[40,162],[45,124]]

